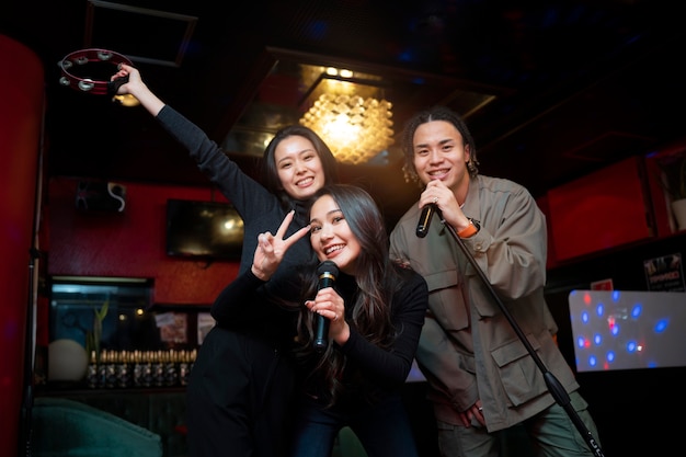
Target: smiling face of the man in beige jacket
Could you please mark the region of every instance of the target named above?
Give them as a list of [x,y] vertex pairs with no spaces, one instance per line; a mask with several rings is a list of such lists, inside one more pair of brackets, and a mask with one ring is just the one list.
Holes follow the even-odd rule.
[[469,146],[451,123],[432,121],[421,124],[414,130],[412,147],[414,169],[424,184],[441,180],[457,194],[469,183]]

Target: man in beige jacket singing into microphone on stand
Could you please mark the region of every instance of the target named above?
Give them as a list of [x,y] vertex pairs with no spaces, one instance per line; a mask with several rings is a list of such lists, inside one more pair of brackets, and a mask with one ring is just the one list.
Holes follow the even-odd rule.
[[[517,424],[547,456],[595,455],[596,427],[556,344],[557,324],[544,298],[547,231],[536,201],[517,183],[478,174],[471,134],[450,110],[418,113],[407,124],[403,141],[405,173],[425,187],[391,233],[391,256],[428,284],[430,310],[416,359],[430,385],[442,456],[498,456],[500,433]],[[459,236],[569,393],[591,438],[550,393],[542,372],[453,233],[434,216],[423,238],[418,237],[426,205],[434,205]]]

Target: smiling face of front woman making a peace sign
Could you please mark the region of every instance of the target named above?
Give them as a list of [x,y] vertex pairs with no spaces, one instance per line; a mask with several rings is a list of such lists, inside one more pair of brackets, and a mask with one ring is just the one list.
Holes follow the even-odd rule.
[[322,195],[312,204],[310,226],[310,242],[317,258],[331,260],[342,272],[354,275],[362,247],[331,195]]

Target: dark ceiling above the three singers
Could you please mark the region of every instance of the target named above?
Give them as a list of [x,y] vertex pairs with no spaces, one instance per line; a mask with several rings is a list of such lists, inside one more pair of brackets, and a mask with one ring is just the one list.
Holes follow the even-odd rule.
[[45,65],[50,175],[207,184],[141,107],[59,84],[58,64],[90,47],[130,58],[162,100],[249,171],[261,149],[251,135],[297,122],[302,111],[306,88],[294,69],[332,65],[380,77],[396,145],[379,163],[344,165],[343,175],[370,190],[391,222],[418,192],[402,180],[399,134],[411,113],[435,103],[465,115],[482,173],[536,197],[686,133],[678,2],[12,3],[0,32]]

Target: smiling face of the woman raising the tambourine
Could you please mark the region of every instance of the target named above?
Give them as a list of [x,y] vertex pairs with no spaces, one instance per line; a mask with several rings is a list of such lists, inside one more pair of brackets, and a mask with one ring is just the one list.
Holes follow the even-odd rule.
[[301,136],[284,138],[274,150],[284,191],[295,199],[308,199],[324,185],[324,170],[312,142]]

